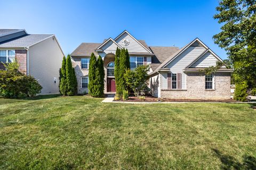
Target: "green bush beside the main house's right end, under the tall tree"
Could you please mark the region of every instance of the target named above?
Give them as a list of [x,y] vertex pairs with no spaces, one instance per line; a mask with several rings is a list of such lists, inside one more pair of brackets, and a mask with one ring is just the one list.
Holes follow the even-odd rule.
[[236,83],[234,99],[239,101],[246,101],[246,97],[248,95],[247,88],[248,85],[246,81]]

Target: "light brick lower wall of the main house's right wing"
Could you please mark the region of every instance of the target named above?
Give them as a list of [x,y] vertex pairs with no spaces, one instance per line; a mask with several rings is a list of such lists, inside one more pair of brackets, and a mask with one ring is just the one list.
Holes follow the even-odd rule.
[[161,97],[172,99],[230,99],[230,73],[215,73],[214,90],[205,90],[203,73],[187,73],[186,90],[161,90]]

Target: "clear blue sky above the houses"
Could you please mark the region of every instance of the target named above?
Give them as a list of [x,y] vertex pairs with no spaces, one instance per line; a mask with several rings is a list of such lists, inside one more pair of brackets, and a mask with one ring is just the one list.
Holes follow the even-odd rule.
[[222,59],[212,36],[217,0],[194,1],[13,1],[0,0],[0,28],[53,33],[65,54],[81,43],[101,43],[123,30],[148,46],[182,47],[198,37]]

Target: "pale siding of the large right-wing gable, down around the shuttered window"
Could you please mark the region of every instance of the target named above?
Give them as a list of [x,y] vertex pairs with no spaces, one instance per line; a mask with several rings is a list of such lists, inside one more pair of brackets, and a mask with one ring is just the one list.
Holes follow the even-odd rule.
[[[205,50],[206,49],[204,47],[188,47],[184,52],[182,52],[177,58],[175,58],[171,63],[166,66],[170,69],[172,73],[181,73],[181,89],[187,89],[187,77],[186,74],[183,73],[183,70]],[[167,89],[167,73],[164,73],[162,79],[162,89]]]

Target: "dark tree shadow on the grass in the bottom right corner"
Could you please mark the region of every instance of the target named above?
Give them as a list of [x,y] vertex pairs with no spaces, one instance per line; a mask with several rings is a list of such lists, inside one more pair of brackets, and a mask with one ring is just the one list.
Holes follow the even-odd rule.
[[221,169],[256,169],[256,158],[249,155],[244,155],[242,162],[229,155],[222,154],[218,149],[212,149],[220,159],[222,165]]

